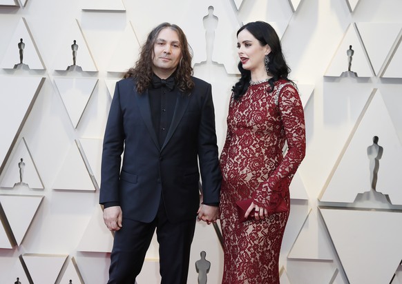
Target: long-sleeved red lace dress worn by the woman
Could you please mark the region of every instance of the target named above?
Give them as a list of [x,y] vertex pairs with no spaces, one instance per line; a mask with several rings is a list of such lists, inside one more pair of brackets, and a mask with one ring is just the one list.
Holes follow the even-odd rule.
[[[227,138],[220,156],[223,180],[220,223],[224,237],[222,284],[279,283],[279,252],[289,211],[260,221],[238,221],[236,201],[253,198],[275,207],[305,156],[305,121],[291,83],[251,85],[240,101],[231,99]],[[283,148],[287,142],[287,152]]]

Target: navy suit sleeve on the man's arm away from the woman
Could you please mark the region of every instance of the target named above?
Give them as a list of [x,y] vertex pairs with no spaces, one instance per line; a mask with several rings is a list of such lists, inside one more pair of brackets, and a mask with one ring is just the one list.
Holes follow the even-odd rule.
[[104,134],[102,181],[99,194],[101,204],[119,204],[119,172],[125,139],[120,103],[119,83],[117,82]]

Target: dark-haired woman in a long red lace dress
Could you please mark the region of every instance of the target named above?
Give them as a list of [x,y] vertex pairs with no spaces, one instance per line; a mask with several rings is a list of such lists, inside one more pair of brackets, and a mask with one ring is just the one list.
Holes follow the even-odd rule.
[[[275,30],[262,21],[237,33],[240,80],[232,88],[220,156],[224,284],[279,283],[289,184],[305,156],[303,106]],[[287,142],[287,153],[283,148]],[[240,221],[237,201],[251,199]],[[280,201],[285,211],[277,212]]]

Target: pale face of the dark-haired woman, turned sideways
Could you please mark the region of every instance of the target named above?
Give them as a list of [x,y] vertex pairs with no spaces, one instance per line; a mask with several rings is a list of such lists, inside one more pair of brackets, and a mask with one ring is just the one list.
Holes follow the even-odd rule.
[[269,45],[262,46],[248,30],[238,34],[238,55],[245,70],[265,70],[264,57],[271,52]]

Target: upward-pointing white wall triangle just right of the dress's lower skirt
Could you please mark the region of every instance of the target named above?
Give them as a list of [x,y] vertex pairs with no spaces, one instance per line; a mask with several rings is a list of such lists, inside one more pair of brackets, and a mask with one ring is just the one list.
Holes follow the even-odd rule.
[[288,258],[325,261],[334,259],[331,244],[324,234],[325,228],[320,223],[317,215],[311,211],[289,252]]

